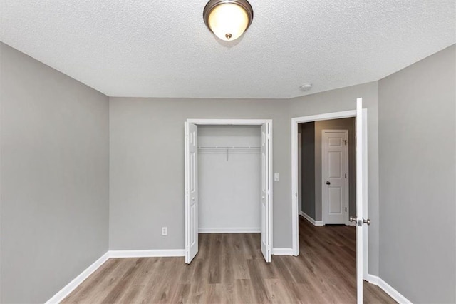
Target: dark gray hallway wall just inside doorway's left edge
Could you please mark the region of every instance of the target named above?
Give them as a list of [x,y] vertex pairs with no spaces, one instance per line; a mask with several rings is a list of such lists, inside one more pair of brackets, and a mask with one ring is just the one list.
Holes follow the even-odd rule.
[[315,219],[315,123],[301,127],[301,210]]

